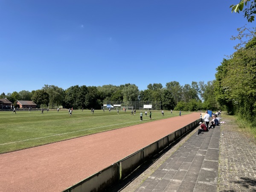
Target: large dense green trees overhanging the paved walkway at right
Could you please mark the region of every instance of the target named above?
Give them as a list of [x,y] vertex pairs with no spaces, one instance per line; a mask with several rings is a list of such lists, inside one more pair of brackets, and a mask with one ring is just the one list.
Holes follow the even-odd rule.
[[224,59],[217,68],[215,95],[228,111],[255,124],[256,38]]

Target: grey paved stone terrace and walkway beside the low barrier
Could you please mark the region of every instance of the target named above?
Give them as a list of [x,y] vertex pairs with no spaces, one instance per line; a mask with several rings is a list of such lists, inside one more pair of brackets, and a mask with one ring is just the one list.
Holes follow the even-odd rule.
[[256,192],[256,142],[234,122],[227,119],[198,136],[196,128],[149,168],[142,166],[111,191]]

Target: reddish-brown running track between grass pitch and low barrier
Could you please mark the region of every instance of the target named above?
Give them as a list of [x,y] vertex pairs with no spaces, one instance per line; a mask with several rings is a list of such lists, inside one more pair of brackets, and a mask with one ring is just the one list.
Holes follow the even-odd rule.
[[0,154],[0,192],[63,191],[199,117],[190,113]]

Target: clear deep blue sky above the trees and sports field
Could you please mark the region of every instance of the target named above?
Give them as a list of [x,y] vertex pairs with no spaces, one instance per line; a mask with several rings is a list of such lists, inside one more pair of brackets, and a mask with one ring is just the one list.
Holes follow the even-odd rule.
[[239,0],[0,0],[0,93],[44,84],[212,81],[238,41]]

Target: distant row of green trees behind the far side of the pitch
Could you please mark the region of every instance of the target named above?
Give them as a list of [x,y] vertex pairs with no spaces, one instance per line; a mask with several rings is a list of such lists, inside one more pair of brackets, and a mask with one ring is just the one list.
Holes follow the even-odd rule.
[[101,109],[109,101],[128,102],[145,101],[161,102],[161,109],[198,111],[201,109],[218,110],[219,105],[214,97],[214,81],[195,82],[181,86],[177,81],[148,84],[146,90],[139,90],[135,84],[122,84],[119,86],[108,84],[103,86],[75,85],[66,90],[55,85],[44,85],[39,90],[13,93],[2,93],[0,98],[9,99],[17,107],[17,100],[32,100],[40,107],[58,108],[84,108]]

